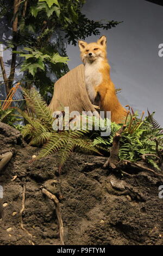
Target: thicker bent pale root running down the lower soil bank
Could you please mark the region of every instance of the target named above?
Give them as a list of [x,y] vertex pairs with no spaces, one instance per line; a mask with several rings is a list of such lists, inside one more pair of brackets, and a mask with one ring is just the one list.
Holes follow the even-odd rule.
[[45,188],[42,188],[42,193],[46,194],[46,196],[55,203],[55,211],[56,211],[56,215],[59,223],[60,241],[61,241],[61,244],[64,245],[64,225],[63,225],[61,214],[60,214],[59,200],[57,199],[57,197],[54,196],[54,194],[47,191]]

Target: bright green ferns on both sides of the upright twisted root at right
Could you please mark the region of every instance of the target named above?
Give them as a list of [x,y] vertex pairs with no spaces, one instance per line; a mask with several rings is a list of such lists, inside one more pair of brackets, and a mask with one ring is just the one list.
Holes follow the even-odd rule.
[[[120,160],[141,161],[143,154],[154,154],[156,156],[163,156],[161,149],[163,148],[163,134],[160,125],[153,118],[154,112],[148,114],[142,121],[134,113],[131,120],[127,123],[127,129],[122,133],[120,140],[119,157]],[[105,147],[108,150],[112,147],[112,141],[115,133],[121,128],[121,125],[111,123],[111,135],[109,137],[97,136],[93,139],[93,145]],[[158,149],[156,148],[156,141],[158,141]],[[161,157],[162,157],[161,156]],[[146,160],[153,167],[160,169],[159,164],[156,163],[154,156],[147,156]]]

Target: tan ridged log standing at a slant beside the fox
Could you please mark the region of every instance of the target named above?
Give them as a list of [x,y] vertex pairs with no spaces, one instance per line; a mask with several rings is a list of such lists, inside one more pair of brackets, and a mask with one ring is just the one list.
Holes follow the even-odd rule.
[[69,107],[70,112],[91,111],[99,116],[87,95],[83,64],[72,69],[54,84],[54,94],[49,108],[54,112],[64,111],[64,107]]

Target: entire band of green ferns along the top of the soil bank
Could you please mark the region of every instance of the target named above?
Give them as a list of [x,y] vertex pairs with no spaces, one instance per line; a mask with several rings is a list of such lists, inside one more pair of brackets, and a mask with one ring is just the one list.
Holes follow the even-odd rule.
[[[30,145],[42,147],[37,158],[58,153],[58,161],[61,167],[74,148],[94,151],[98,154],[101,151],[107,151],[107,153],[110,151],[115,133],[121,128],[122,124],[111,123],[111,134],[107,137],[101,136],[103,126],[106,126],[106,120],[99,125],[97,131],[95,127],[99,120],[96,117],[93,119],[93,130],[89,130],[88,125],[85,130],[53,130],[54,120],[56,119],[52,117],[51,109],[47,107],[39,92],[33,88],[31,90],[23,89],[23,93],[28,112],[20,109],[18,109],[18,112],[27,120],[28,124],[23,127],[22,134],[24,138],[28,139]],[[150,154],[146,157],[146,161],[159,169],[156,157],[151,154],[162,159],[163,135],[153,118],[153,114],[148,115],[144,120],[142,120],[143,114],[140,118],[137,113],[129,115],[127,128],[122,133],[120,140],[120,160],[136,162],[142,160],[142,155]],[[87,117],[86,121],[89,118]]]

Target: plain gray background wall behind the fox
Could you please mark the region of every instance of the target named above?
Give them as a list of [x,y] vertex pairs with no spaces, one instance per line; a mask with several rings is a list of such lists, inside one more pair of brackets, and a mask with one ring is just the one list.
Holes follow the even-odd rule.
[[[123,105],[155,113],[163,127],[163,7],[144,0],[87,0],[83,13],[93,20],[123,21],[116,28],[101,31],[108,39],[111,78]],[[82,21],[81,21],[82,22]],[[98,36],[87,38],[96,41]],[[78,46],[67,46],[70,69],[81,64]]]

